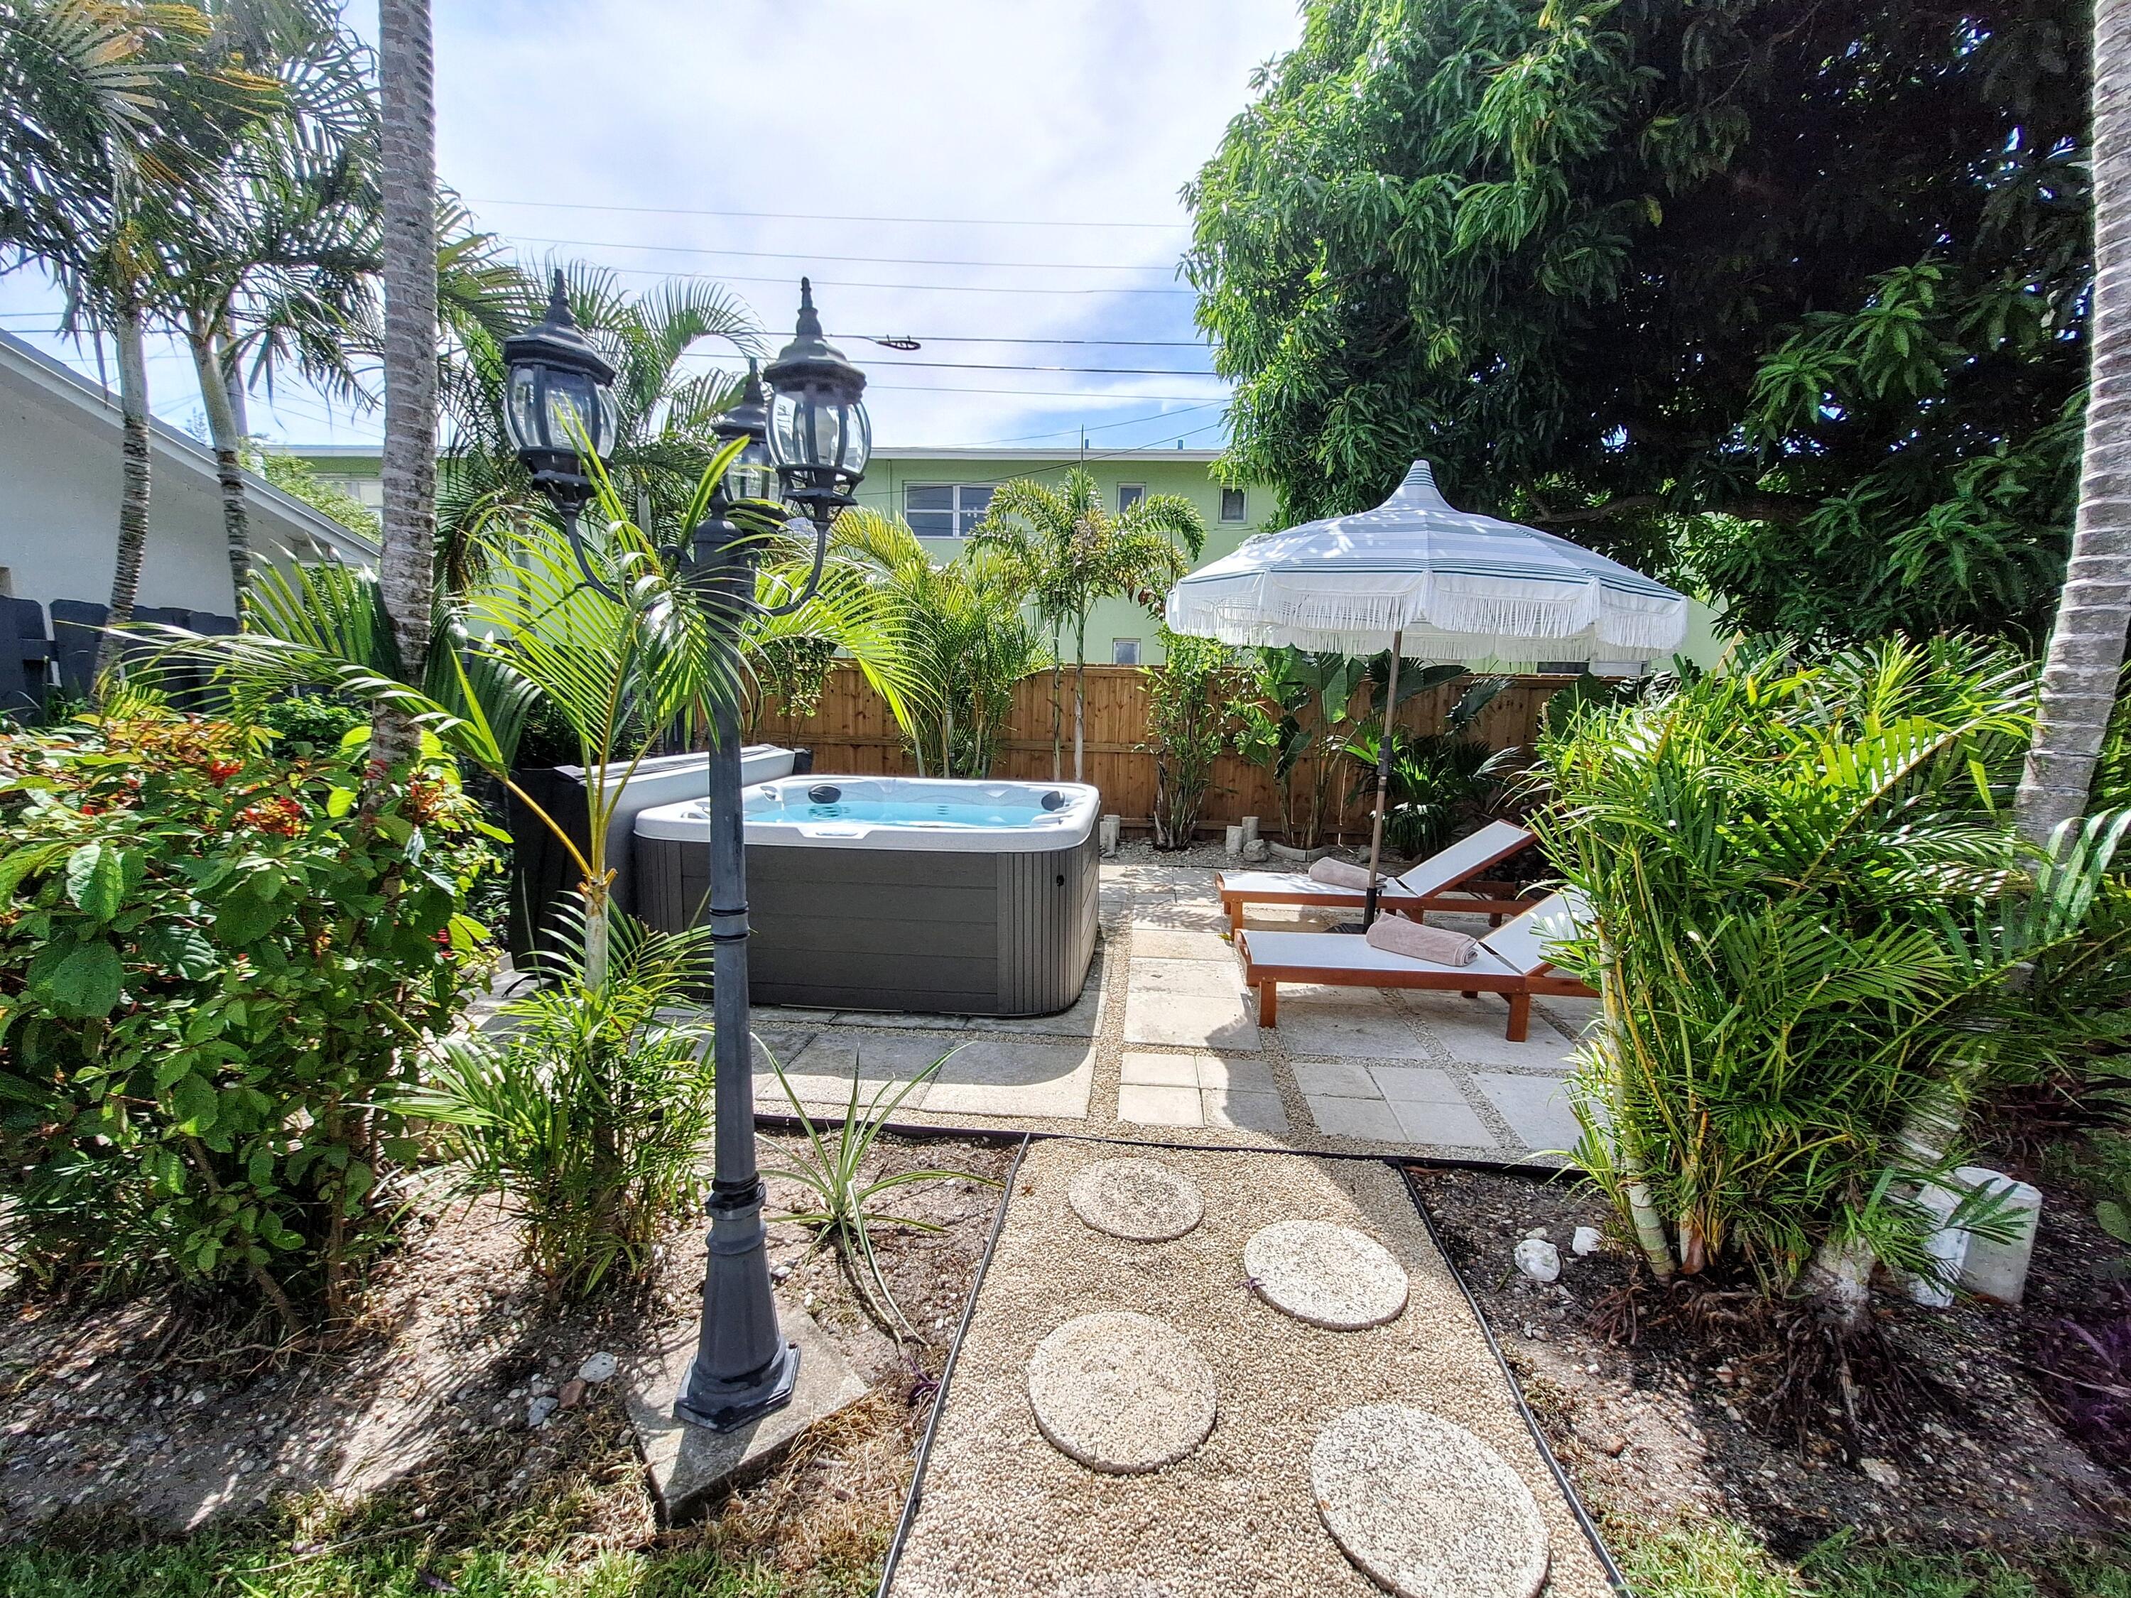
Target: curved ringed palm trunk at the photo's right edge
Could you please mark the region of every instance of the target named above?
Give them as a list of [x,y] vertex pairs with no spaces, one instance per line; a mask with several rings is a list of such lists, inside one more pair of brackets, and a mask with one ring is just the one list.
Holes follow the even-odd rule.
[[2037,844],[2086,810],[2131,624],[2131,0],[2095,6],[2095,311],[2071,562],[2014,818]]

